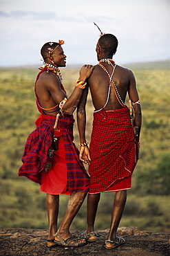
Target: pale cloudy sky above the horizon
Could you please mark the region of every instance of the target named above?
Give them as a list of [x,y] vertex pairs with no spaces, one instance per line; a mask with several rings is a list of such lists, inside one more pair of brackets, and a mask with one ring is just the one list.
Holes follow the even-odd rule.
[[39,65],[63,39],[69,64],[96,64],[100,32],[118,38],[118,64],[170,59],[170,0],[0,0],[0,66]]

